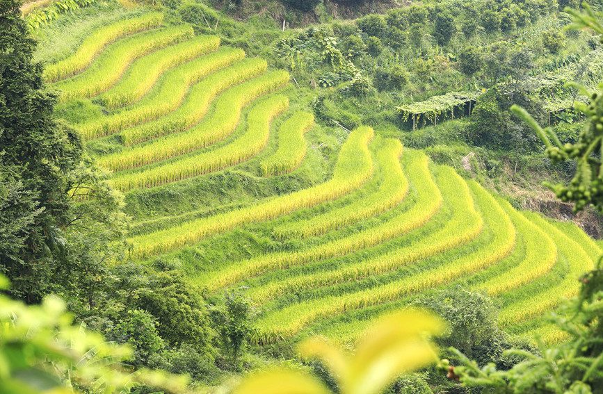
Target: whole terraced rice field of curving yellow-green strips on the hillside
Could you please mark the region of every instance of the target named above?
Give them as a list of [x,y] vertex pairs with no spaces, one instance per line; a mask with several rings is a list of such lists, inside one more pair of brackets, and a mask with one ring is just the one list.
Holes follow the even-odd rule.
[[259,344],[351,342],[458,284],[499,299],[508,331],[562,339],[542,315],[601,254],[584,232],[369,127],[321,129],[287,72],[161,23],[149,13],[91,31],[45,73],[132,204],[131,260],[182,266],[208,296],[246,286]]

